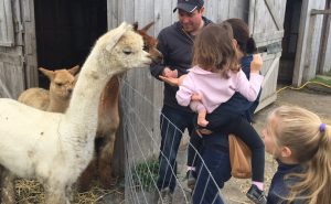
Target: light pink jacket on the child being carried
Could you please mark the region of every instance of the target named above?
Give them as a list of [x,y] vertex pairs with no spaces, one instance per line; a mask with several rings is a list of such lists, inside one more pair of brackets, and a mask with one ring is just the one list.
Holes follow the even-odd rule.
[[202,104],[192,101],[191,108],[194,111],[205,108],[207,112],[227,101],[235,92],[239,92],[249,101],[257,98],[264,76],[250,73],[248,80],[243,71],[229,71],[228,75],[229,78],[224,78],[218,73],[194,66],[179,87],[175,98],[181,106],[189,106],[192,94],[199,93],[202,95]]

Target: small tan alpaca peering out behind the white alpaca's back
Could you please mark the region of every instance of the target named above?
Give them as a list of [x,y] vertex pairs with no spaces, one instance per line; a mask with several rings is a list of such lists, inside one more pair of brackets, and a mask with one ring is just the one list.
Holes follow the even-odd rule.
[[18,100],[41,110],[64,112],[68,107],[75,74],[79,71],[79,66],[58,71],[49,71],[43,67],[39,69],[50,79],[50,89],[29,88],[19,96]]

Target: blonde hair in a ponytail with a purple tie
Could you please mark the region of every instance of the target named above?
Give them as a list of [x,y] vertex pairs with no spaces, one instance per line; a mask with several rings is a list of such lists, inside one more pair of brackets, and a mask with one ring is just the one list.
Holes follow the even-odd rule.
[[290,185],[288,203],[302,198],[308,204],[327,204],[331,201],[331,131],[313,112],[300,108],[281,106],[270,115],[276,146],[288,147],[293,159],[303,168],[301,173],[286,176],[297,178]]

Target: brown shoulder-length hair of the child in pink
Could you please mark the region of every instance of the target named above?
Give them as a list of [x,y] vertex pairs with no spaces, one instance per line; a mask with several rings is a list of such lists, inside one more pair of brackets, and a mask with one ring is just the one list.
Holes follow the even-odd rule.
[[194,40],[193,65],[221,73],[228,78],[228,71],[239,71],[233,31],[228,23],[206,25]]

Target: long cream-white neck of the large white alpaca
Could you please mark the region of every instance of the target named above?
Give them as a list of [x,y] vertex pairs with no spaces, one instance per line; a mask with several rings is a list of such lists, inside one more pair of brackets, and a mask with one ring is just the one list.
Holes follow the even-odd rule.
[[95,137],[97,110],[102,90],[114,74],[99,67],[97,56],[92,53],[82,67],[70,106],[65,112],[66,122],[86,131],[84,137]]

